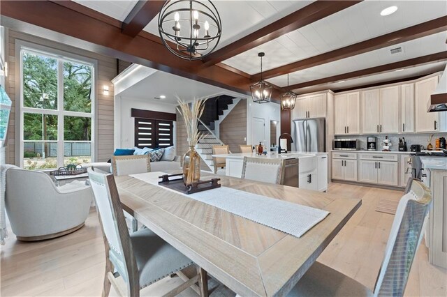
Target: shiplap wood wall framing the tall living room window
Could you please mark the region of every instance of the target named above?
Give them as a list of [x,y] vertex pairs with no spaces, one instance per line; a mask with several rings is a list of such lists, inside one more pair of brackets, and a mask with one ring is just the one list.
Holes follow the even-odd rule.
[[[56,50],[70,52],[79,56],[85,56],[90,59],[98,61],[98,75],[96,80],[96,147],[97,155],[96,162],[104,162],[110,159],[113,153],[113,84],[110,80],[117,75],[117,60],[110,56],[103,56],[94,52],[80,50],[76,47],[70,47],[61,43],[55,43],[50,40],[31,36],[28,34],[8,31],[8,77],[6,81],[6,90],[11,100],[13,107],[10,114],[10,122],[8,126],[8,153],[6,155],[6,162],[15,164],[15,153],[18,153],[19,148],[15,147],[15,136],[19,135],[15,127],[15,101],[19,96],[19,84],[15,82],[16,66],[19,66],[20,57],[15,56],[15,40],[24,40],[29,43],[51,47]],[[17,67],[18,68],[18,67]],[[103,86],[109,87],[108,95],[103,94]],[[16,89],[17,86],[17,89]],[[17,165],[17,164],[16,164]]]

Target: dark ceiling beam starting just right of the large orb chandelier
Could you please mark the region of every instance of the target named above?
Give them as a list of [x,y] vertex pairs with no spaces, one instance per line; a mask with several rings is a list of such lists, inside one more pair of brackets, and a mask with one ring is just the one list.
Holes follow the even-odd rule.
[[328,17],[340,10],[349,8],[359,2],[361,1],[314,1],[300,10],[297,10],[290,15],[286,15],[286,17],[283,17],[272,24],[268,24],[234,43],[222,47],[205,57],[203,62],[205,62],[205,66],[212,66],[229,59],[232,56],[251,50],[258,45],[262,45],[263,43],[267,43],[270,40],[283,36],[286,33],[312,24],[313,22]]

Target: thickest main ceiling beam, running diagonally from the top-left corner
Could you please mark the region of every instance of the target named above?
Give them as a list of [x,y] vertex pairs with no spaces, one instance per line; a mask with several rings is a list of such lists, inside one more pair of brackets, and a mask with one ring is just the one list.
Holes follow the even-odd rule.
[[[132,38],[122,33],[121,26],[98,20],[92,16],[94,13],[80,13],[52,1],[32,0],[0,1],[0,12],[5,16],[1,19],[2,24],[8,22],[13,25],[12,29],[24,33],[32,33],[237,93],[250,94],[249,86],[252,82],[244,75],[219,66],[205,68],[201,61],[179,59],[152,34],[142,31]],[[274,101],[279,102],[277,97],[280,93],[280,90],[274,90]]]

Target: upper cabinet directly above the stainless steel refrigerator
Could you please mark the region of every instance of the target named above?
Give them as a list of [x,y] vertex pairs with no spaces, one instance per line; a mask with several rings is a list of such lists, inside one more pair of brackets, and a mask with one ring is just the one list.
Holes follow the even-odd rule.
[[294,120],[326,117],[326,93],[297,98],[293,109]]

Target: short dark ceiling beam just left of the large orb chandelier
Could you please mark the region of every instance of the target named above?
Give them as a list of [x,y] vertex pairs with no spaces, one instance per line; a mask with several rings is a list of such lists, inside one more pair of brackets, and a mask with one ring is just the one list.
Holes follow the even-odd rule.
[[162,0],[138,1],[124,20],[122,33],[131,37],[137,36],[160,12],[164,3],[166,1]]

